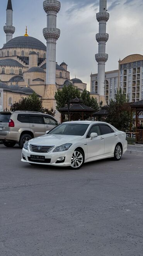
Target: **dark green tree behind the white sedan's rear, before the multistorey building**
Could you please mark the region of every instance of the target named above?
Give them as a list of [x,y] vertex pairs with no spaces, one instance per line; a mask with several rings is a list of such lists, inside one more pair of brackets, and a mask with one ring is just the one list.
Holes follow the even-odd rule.
[[107,116],[107,122],[111,123],[118,130],[128,130],[130,124],[130,112],[126,108],[125,103],[127,103],[128,97],[122,93],[121,88],[117,90],[115,95],[115,101],[111,100],[109,104],[109,114]]

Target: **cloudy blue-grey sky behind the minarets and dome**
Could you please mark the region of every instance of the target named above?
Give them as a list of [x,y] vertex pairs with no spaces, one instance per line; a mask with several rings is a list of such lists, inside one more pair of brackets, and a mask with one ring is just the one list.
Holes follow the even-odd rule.
[[[0,0],[0,47],[5,43],[3,26],[6,23],[7,0]],[[61,0],[61,10],[57,15],[57,28],[61,35],[57,41],[56,61],[65,61],[71,79],[75,77],[88,84],[90,74],[97,73],[95,53],[98,43],[95,34],[99,24],[96,12],[99,12],[99,0]],[[46,27],[46,13],[43,0],[12,0],[13,37],[28,34],[46,44],[43,28]],[[110,19],[107,22],[109,40],[106,53],[106,71],[118,69],[118,60],[129,54],[143,54],[143,1],[142,0],[107,0]]]

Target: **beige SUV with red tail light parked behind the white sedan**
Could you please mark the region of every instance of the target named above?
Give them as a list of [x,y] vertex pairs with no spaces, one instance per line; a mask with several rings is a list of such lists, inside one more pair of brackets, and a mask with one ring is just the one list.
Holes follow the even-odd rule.
[[54,117],[40,112],[0,112],[0,140],[6,147],[18,143],[22,148],[26,141],[44,135],[57,124]]

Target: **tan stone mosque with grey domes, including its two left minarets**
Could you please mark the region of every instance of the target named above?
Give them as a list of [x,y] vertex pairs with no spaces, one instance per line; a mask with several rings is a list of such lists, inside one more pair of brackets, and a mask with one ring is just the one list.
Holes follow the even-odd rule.
[[60,2],[46,0],[43,7],[47,13],[47,28],[43,29],[47,46],[29,36],[27,27],[25,35],[13,38],[12,1],[8,0],[7,20],[3,27],[6,43],[0,49],[0,111],[10,109],[14,102],[34,91],[42,97],[44,107],[55,109],[54,94],[57,89],[71,83],[80,91],[87,88],[87,84],[80,79],[70,79],[68,65],[64,61],[60,65],[56,63],[56,40],[60,36],[56,16],[60,11]]

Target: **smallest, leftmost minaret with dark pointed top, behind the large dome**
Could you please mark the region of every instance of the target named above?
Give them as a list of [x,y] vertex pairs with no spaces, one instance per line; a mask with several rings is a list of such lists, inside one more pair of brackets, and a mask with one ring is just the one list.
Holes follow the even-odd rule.
[[6,33],[6,43],[12,39],[12,35],[15,32],[15,27],[13,25],[13,10],[12,10],[12,1],[8,0],[7,3],[7,22],[6,26],[3,27],[4,32]]

